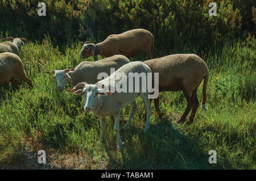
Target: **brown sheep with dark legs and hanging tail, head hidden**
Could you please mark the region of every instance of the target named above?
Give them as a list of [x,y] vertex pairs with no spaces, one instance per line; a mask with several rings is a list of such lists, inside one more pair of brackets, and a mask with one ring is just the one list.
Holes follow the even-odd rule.
[[[205,102],[207,100],[206,90],[209,69],[199,56],[196,54],[172,54],[166,57],[147,60],[144,63],[150,67],[153,74],[159,73],[159,92],[183,90],[188,105],[177,122],[184,122],[191,109],[189,123],[193,122],[199,106],[196,94],[197,87],[203,79],[203,101],[201,107],[207,111]],[[159,111],[159,99],[157,98],[154,101],[156,110]]]

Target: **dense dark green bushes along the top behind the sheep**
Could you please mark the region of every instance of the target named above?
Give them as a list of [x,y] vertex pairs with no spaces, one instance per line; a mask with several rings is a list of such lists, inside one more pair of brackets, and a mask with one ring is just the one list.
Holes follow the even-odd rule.
[[2,36],[42,40],[48,34],[55,44],[77,40],[97,42],[112,33],[145,28],[153,33],[155,53],[160,55],[180,48],[188,39],[204,50],[214,40],[254,31],[252,1],[218,0],[217,16],[208,15],[210,0],[44,2],[46,16],[38,16],[38,1],[0,0]]

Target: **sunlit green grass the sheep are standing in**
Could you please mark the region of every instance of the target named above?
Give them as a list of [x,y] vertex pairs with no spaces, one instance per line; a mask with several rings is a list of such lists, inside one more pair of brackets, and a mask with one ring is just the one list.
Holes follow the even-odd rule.
[[[11,83],[0,87],[1,168],[18,164],[26,150],[43,149],[47,163],[57,169],[256,169],[255,39],[216,43],[209,52],[189,44],[172,52],[197,53],[207,63],[209,111],[199,108],[192,125],[174,124],[187,105],[183,92],[160,93],[164,114],[159,117],[152,106],[150,129],[144,134],[145,111],[138,97],[131,126],[121,132],[123,151],[117,150],[111,117],[99,145],[100,120],[82,111],[82,96],[58,92],[55,79],[44,73],[73,68],[82,61],[80,49],[71,44],[61,53],[49,39],[22,47],[20,58],[34,88],[26,83],[18,89]],[[146,58],[142,54],[134,60]],[[202,88],[203,83],[199,100]],[[121,124],[129,112],[130,107],[122,110]],[[208,163],[209,150],[217,151],[217,164]]]

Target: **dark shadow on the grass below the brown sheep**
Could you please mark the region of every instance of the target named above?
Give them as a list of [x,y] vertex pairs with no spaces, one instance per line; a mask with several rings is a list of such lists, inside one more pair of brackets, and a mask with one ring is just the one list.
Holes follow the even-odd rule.
[[[125,142],[121,169],[216,169],[208,162],[210,155],[203,151],[199,140],[191,140],[180,133],[168,118],[155,122],[150,124],[147,133],[133,123],[121,132]],[[108,168],[113,168],[115,155],[109,151],[108,154]]]

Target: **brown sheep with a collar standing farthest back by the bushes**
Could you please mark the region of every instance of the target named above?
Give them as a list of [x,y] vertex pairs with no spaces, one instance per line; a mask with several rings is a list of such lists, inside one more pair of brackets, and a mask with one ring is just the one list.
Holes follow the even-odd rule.
[[153,49],[154,36],[152,33],[144,29],[135,29],[119,35],[110,35],[106,40],[97,44],[87,44],[86,41],[80,52],[80,57],[88,58],[94,56],[94,61],[96,61],[98,54],[105,57],[110,57],[114,54],[123,54],[129,58],[143,51],[152,59],[154,58],[152,54]]

